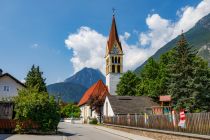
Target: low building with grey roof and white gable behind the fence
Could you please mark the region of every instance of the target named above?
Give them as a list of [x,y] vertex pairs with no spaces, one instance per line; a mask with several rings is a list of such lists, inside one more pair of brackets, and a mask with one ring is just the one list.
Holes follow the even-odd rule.
[[147,96],[106,96],[103,115],[112,117],[116,115],[152,114],[152,107],[159,106]]

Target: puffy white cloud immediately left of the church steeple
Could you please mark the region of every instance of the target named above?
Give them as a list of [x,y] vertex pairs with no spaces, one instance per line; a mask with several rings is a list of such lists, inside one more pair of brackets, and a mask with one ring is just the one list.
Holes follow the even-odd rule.
[[89,27],[80,27],[77,33],[70,34],[66,46],[73,51],[70,61],[74,72],[83,67],[105,70],[105,48],[107,38]]

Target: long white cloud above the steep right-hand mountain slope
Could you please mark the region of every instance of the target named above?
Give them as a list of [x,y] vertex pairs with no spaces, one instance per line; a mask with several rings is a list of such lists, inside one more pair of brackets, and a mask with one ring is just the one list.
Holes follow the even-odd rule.
[[162,18],[159,14],[148,15],[148,31],[140,33],[141,45],[150,45],[153,54],[163,45],[181,33],[192,28],[199,19],[210,13],[210,0],[201,1],[196,7],[185,6],[177,11],[179,19],[175,22]]

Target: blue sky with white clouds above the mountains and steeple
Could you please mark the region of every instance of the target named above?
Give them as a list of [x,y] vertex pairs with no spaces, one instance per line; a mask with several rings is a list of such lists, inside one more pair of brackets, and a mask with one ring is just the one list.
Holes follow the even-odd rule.
[[[33,64],[39,65],[47,78],[47,84],[63,81],[84,66],[98,68],[103,72],[103,66],[97,67],[99,62],[93,62],[98,56],[95,56],[95,59],[89,59],[87,56],[89,61],[82,62],[86,61],[82,57],[88,53],[81,50],[82,47],[90,48],[90,55],[94,55],[91,52],[94,51],[94,46],[90,47],[92,44],[102,46],[105,50],[104,40],[109,34],[114,7],[118,32],[123,44],[134,50],[141,48],[135,55],[147,54],[143,58],[135,57],[126,61],[125,70],[134,69],[158,49],[154,46],[155,49],[142,51],[143,48],[150,48],[153,45],[155,34],[161,34],[161,31],[157,32],[160,28],[155,23],[161,23],[158,26],[163,24],[163,27],[166,27],[161,28],[162,31],[174,32],[179,29],[175,24],[178,26],[182,23],[181,19],[187,10],[189,12],[190,9],[187,8],[194,8],[191,9],[192,13],[198,14],[194,22],[209,12],[208,2],[206,5],[203,4],[207,10],[196,11],[202,2],[200,0],[0,0],[0,68],[23,80]],[[187,30],[193,26],[184,26],[188,24],[190,23],[183,24],[182,27]],[[91,34],[93,36],[88,37]],[[81,35],[92,40],[81,41]],[[164,41],[159,46],[164,45],[175,35],[171,35],[169,39],[163,38]],[[97,39],[101,41],[97,42]],[[78,45],[79,42],[84,43]],[[95,47],[98,47],[97,45]],[[126,52],[132,54],[131,49]],[[103,58],[101,54],[99,57]]]

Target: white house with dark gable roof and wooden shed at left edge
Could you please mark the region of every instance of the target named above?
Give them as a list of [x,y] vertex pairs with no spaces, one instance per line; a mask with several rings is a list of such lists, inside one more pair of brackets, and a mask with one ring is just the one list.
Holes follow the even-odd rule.
[[12,98],[18,95],[18,90],[25,85],[9,73],[0,69],[0,119],[11,119],[13,112]]

